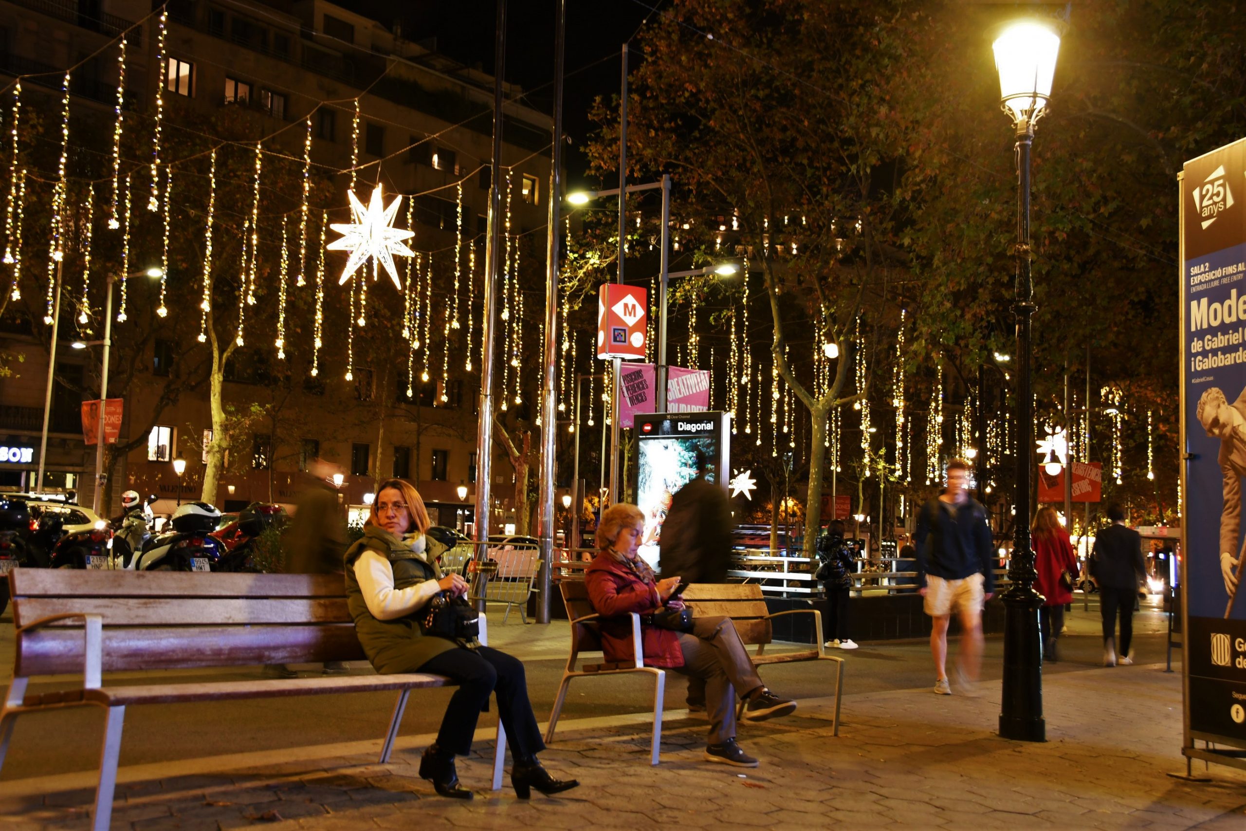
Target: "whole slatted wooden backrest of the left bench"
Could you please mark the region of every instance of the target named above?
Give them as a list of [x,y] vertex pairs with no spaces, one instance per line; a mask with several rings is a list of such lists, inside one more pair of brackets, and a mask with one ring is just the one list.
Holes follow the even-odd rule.
[[[103,670],[361,660],[341,574],[15,568],[14,625],[103,619]],[[82,670],[81,620],[19,633],[15,675]]]

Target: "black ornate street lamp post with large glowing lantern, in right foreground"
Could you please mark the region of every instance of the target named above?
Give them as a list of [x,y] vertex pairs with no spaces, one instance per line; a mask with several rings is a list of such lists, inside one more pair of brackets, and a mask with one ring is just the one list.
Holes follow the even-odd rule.
[[1029,538],[1030,449],[1034,446],[1033,402],[1030,400],[1030,319],[1034,314],[1034,284],[1030,277],[1029,247],[1029,151],[1034,123],[1043,115],[1052,95],[1055,59],[1060,37],[1039,21],[1009,25],[994,42],[996,69],[1004,112],[1017,135],[1017,432],[1014,456],[1017,485],[1013,491],[1015,532],[1011,586],[1003,593],[1004,672],[999,710],[999,735],[1022,741],[1045,741],[1043,719],[1043,663],[1038,608],[1043,597],[1034,591],[1034,551]]

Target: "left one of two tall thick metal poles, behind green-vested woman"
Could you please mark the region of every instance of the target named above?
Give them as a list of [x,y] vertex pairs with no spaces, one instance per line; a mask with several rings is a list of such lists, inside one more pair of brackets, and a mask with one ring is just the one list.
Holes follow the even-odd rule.
[[[493,36],[493,156],[488,183],[488,221],[485,244],[485,298],[481,323],[480,356],[480,429],[476,431],[476,539],[488,541],[492,511],[493,473],[493,316],[497,314],[497,267],[501,248],[502,207],[502,75],[506,70],[506,0],[497,0],[497,21]],[[553,198],[553,194],[551,194]],[[473,556],[483,559],[485,551]],[[483,605],[483,601],[481,601]]]

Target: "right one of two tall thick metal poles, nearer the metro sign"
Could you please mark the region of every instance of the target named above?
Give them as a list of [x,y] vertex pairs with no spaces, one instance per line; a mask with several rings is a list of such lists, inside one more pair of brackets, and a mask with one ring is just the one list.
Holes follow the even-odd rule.
[[558,206],[562,196],[562,74],[567,0],[557,0],[553,40],[553,153],[549,159],[549,222],[546,228],[546,354],[541,400],[541,566],[537,623],[549,623],[549,566],[553,562],[553,477],[558,437],[554,373],[558,370]]

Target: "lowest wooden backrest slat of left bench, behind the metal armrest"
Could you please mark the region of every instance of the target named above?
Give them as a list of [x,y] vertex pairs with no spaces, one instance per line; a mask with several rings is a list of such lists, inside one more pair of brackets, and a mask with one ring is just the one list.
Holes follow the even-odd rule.
[[[14,674],[82,672],[82,630],[47,628],[17,637]],[[103,670],[199,669],[363,660],[350,623],[303,627],[105,628]]]

